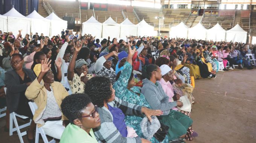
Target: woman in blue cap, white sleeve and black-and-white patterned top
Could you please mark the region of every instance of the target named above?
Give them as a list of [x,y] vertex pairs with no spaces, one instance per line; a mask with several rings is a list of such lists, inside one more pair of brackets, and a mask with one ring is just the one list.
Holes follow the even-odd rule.
[[116,73],[113,68],[111,68],[112,60],[114,59],[111,56],[117,56],[117,52],[101,52],[101,54],[99,55],[99,59],[96,61],[95,64],[95,73],[96,76],[108,77],[111,81],[111,84],[114,84],[114,82],[116,81]]

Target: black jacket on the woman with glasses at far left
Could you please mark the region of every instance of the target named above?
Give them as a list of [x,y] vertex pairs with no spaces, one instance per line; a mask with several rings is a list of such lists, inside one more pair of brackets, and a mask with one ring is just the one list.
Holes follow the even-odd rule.
[[[34,72],[32,70],[23,68],[23,71],[31,79],[31,81],[34,81],[35,78],[37,78],[34,75]],[[5,87],[7,88],[6,90],[7,107],[10,113],[12,113],[17,110],[18,103],[20,100],[20,92],[26,91],[27,85],[20,84],[19,75],[16,73],[15,70],[10,70],[10,71],[6,71],[5,73]]]

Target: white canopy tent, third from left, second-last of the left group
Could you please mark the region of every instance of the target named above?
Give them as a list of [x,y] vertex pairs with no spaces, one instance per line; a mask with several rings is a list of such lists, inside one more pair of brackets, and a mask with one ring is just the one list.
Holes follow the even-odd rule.
[[36,32],[38,35],[41,33],[44,36],[49,36],[50,33],[50,20],[42,17],[37,11],[33,11],[31,14],[27,15],[27,18],[31,18],[31,32],[35,34]]

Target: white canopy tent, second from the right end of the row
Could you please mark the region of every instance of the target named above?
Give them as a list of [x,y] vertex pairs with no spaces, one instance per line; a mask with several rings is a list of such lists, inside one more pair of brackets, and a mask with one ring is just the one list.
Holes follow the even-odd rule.
[[226,30],[224,30],[219,23],[206,31],[206,39],[216,41],[225,41]]

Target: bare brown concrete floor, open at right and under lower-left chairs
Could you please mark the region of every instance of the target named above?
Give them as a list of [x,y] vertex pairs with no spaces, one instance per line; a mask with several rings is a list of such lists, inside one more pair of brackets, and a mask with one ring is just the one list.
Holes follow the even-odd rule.
[[[187,143],[256,143],[256,69],[219,72],[195,84],[192,119],[198,137]],[[4,125],[1,118],[0,143],[19,143]],[[26,136],[23,140],[27,143]]]

